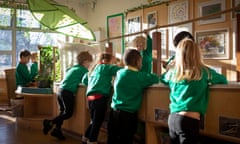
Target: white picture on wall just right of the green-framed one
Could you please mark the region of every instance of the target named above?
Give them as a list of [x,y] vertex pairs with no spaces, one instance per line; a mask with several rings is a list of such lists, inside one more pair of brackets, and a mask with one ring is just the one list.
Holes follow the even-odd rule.
[[[127,32],[128,34],[136,33],[141,31],[142,20],[140,16],[128,18],[127,20]],[[127,37],[127,41],[131,42],[135,36]]]

